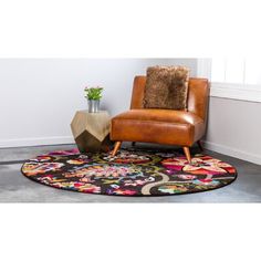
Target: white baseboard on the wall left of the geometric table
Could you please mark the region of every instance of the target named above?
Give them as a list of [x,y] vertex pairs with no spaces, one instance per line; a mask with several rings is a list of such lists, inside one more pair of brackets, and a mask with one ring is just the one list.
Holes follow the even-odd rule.
[[72,144],[74,139],[72,136],[54,136],[54,137],[38,137],[38,138],[18,138],[0,140],[0,148],[10,147],[27,147],[39,145],[56,145],[56,144]]

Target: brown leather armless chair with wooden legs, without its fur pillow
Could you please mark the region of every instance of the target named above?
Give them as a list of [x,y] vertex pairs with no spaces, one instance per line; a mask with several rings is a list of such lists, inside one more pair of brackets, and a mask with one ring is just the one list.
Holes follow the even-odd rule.
[[116,142],[112,152],[116,155],[122,142],[157,143],[182,146],[191,161],[189,147],[198,143],[206,132],[209,101],[207,79],[189,79],[188,109],[144,108],[146,76],[134,80],[130,109],[112,118],[111,139]]

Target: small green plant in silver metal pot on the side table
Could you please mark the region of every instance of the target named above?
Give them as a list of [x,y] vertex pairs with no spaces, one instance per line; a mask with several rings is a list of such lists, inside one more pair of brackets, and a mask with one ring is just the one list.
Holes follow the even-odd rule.
[[100,100],[102,98],[103,87],[85,87],[84,96],[88,101],[88,112],[97,113],[100,109]]

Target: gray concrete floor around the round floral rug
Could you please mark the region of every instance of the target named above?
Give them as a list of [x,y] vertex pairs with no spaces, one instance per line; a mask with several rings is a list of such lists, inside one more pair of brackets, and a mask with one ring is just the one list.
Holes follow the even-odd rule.
[[[137,145],[137,147],[146,146],[157,147],[155,145]],[[0,149],[0,202],[261,202],[261,166],[210,150],[205,153],[237,168],[238,179],[227,187],[198,194],[164,197],[81,194],[36,184],[20,173],[22,161],[28,158],[72,147],[74,145]]]

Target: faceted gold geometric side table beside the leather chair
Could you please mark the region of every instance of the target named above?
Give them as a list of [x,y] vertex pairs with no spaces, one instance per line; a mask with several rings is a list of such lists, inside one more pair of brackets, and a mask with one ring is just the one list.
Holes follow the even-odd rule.
[[111,117],[106,111],[77,111],[71,128],[81,153],[109,150]]

